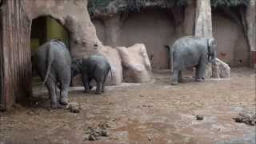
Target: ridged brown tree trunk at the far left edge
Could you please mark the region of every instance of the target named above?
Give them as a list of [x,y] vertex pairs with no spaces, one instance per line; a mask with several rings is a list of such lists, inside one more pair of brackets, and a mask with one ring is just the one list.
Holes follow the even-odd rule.
[[23,0],[3,0],[1,6],[1,102],[10,109],[15,101],[32,94],[30,61],[30,21]]

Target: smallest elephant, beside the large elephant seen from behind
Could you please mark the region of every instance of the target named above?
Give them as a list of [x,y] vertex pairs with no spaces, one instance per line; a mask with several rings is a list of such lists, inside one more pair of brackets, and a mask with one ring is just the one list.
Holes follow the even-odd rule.
[[79,58],[72,61],[72,77],[77,74],[82,74],[82,82],[85,87],[85,93],[88,93],[92,86],[90,86],[91,80],[95,80],[97,83],[96,93],[104,93],[104,87],[106,77],[112,71],[110,63],[107,59],[99,54],[90,55],[88,58]]

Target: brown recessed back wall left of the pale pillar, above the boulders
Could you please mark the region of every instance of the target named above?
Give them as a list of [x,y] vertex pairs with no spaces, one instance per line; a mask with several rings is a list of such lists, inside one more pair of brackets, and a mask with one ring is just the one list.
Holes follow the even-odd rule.
[[[186,13],[188,16],[184,22],[194,19],[191,11]],[[173,43],[185,33],[193,34],[194,29],[191,22],[176,26],[170,10],[157,7],[146,8],[139,13],[134,12],[122,17],[115,14],[111,18],[94,18],[92,22],[98,38],[106,45],[129,47],[134,43],[144,43],[153,69],[170,68],[169,53],[163,45]]]

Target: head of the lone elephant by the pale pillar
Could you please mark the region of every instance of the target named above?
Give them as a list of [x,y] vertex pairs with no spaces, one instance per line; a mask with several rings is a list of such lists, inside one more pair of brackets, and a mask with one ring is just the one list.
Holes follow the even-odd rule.
[[207,39],[207,55],[208,61],[214,62],[216,58],[216,46],[217,43],[215,42],[214,38]]

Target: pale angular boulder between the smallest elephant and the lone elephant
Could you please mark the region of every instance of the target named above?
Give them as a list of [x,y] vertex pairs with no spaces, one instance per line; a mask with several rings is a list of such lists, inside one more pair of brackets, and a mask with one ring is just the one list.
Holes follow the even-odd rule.
[[125,82],[150,82],[151,65],[144,44],[118,47],[122,58],[123,74]]

